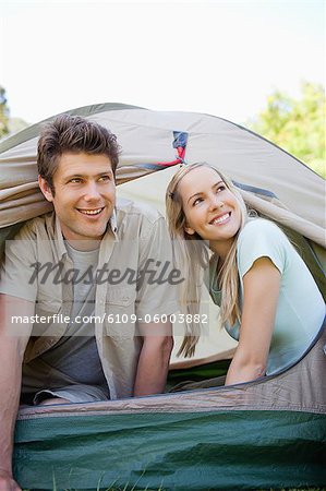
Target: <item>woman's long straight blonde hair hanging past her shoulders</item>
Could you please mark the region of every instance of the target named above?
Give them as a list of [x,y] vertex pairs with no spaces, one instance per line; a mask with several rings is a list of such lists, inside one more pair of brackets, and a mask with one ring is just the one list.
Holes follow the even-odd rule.
[[[218,285],[221,290],[220,322],[233,325],[240,321],[239,309],[239,274],[237,267],[237,237],[247,220],[245,203],[232,181],[221,175],[216,167],[207,163],[196,163],[182,166],[172,177],[166,193],[166,209],[170,235],[173,241],[174,261],[177,267],[183,273],[185,280],[181,284],[180,301],[182,309],[189,319],[194,320],[198,313],[201,289],[203,285],[204,270],[209,264],[209,249],[197,233],[189,235],[185,231],[185,215],[182,207],[182,199],[178,192],[180,181],[193,169],[208,167],[216,171],[226,187],[236,196],[239,204],[241,221],[234,237],[232,247],[218,274]],[[186,332],[178,355],[193,356],[201,335],[201,323],[186,322]]]

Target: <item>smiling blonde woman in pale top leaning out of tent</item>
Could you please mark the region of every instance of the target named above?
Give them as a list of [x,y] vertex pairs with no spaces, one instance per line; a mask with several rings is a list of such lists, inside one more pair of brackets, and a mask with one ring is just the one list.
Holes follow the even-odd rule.
[[[299,360],[323,324],[325,303],[280,228],[251,217],[234,185],[205,163],[181,167],[166,200],[177,262],[188,268],[188,313],[198,308],[201,271],[207,251],[213,253],[209,292],[220,304],[221,323],[239,340],[226,384],[277,373]],[[194,323],[188,328],[180,351],[191,356],[200,330]]]

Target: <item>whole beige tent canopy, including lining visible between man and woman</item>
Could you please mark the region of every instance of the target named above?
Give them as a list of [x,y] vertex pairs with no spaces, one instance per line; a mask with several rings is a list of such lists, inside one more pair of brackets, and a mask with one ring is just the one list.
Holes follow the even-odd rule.
[[[287,152],[225,119],[193,112],[152,111],[120,104],[69,111],[109,128],[122,147],[118,195],[146,201],[164,213],[168,181],[185,164],[207,161],[239,184],[246,203],[294,235],[318,285],[325,264],[324,180]],[[40,123],[41,124],[41,123]],[[37,185],[36,145],[40,124],[0,144],[0,237],[47,212]],[[178,146],[182,146],[182,157]],[[171,165],[174,163],[174,165]],[[324,287],[325,290],[325,287]],[[231,355],[234,342],[217,327],[203,337],[196,358]],[[214,339],[212,339],[212,337]],[[179,363],[178,363],[179,364]]]

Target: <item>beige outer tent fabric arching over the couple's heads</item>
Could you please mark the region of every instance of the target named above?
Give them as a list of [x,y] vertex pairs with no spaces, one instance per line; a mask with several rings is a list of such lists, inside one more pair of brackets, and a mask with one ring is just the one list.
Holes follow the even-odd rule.
[[[267,188],[288,209],[282,207],[281,213],[281,208],[273,207],[273,213],[280,215],[279,221],[283,220],[285,225],[295,229],[298,219],[301,233],[325,246],[324,180],[294,157],[244,128],[213,116],[131,109],[128,106],[125,109],[111,109],[108,104],[70,112],[86,115],[118,135],[122,146],[118,183],[148,173],[146,164],[174,160],[173,131],[185,132],[186,163],[206,160],[236,181],[256,188],[265,189],[267,182]],[[0,144],[1,227],[48,209],[37,187],[39,128],[36,124]],[[258,200],[261,205],[266,206],[266,203]]]

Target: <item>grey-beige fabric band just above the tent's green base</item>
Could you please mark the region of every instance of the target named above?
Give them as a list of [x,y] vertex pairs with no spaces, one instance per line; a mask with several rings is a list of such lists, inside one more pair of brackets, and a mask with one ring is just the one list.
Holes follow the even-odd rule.
[[292,368],[278,375],[203,391],[189,391],[141,398],[118,399],[104,403],[28,407],[22,409],[19,420],[37,417],[77,416],[90,414],[201,412],[214,409],[228,410],[292,410],[326,414],[326,331],[321,330],[318,340]]

